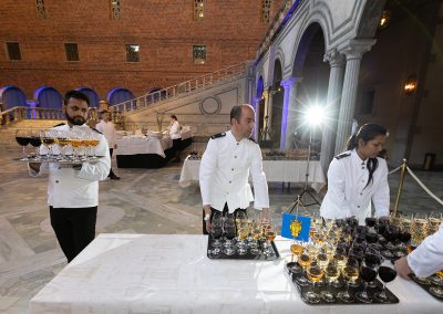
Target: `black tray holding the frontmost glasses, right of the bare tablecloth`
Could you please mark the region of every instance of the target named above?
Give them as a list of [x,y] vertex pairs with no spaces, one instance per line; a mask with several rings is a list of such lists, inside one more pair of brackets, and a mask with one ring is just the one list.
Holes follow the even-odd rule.
[[[384,302],[379,301],[374,297],[374,294],[382,291],[383,284],[375,279],[371,284],[368,285],[367,292],[368,296],[371,300],[370,303],[362,302],[356,297],[356,294],[363,291],[363,283],[360,280],[356,281],[356,284],[349,286],[349,295],[348,301],[342,301],[338,295],[340,293],[347,292],[347,284],[342,282],[340,279],[337,283],[332,283],[330,286],[328,283],[320,281],[317,282],[315,287],[312,287],[312,283],[308,280],[305,272],[300,269],[297,262],[289,262],[285,265],[285,271],[288,274],[290,281],[296,286],[297,291],[300,293],[301,300],[309,305],[354,305],[354,304],[395,304],[399,303],[399,299],[393,294],[389,289],[385,289],[387,299]],[[315,293],[318,297],[309,297],[309,293]],[[322,293],[330,292],[333,297],[329,299],[323,297]],[[347,299],[347,297],[343,297]]]

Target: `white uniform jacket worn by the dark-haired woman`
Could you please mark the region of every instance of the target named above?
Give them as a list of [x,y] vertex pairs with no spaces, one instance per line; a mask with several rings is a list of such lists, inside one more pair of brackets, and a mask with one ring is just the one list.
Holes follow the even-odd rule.
[[[348,157],[332,159],[328,170],[328,192],[320,208],[320,214],[327,219],[354,216],[360,224],[371,216],[371,200],[375,207],[375,217],[389,216],[388,165],[383,158],[377,158],[379,166],[373,172],[373,181],[365,187],[369,178],[367,160],[362,160],[356,149],[346,151]],[[365,187],[365,188],[364,188]]]

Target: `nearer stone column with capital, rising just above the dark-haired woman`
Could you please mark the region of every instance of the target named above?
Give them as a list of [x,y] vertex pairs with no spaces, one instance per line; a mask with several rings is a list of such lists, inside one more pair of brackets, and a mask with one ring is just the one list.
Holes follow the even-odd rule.
[[361,57],[364,52],[371,50],[374,43],[375,40],[351,40],[342,46],[339,46],[339,51],[346,55],[347,65],[337,126],[334,154],[344,150],[344,145],[351,135]]

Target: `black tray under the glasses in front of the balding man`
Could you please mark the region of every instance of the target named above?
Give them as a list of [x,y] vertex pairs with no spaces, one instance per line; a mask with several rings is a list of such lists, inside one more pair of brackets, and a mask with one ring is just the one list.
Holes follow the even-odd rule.
[[[257,247],[253,241],[246,241],[246,253],[240,253],[238,241],[231,241],[231,245],[227,245],[226,239],[220,239],[220,245],[214,245],[215,240],[208,237],[207,257],[212,260],[256,260],[256,261],[275,261],[280,258],[274,241],[257,241]],[[241,245],[240,245],[241,247]],[[256,247],[256,250],[254,248]],[[218,249],[218,250],[217,250]],[[230,251],[229,251],[230,250]]]

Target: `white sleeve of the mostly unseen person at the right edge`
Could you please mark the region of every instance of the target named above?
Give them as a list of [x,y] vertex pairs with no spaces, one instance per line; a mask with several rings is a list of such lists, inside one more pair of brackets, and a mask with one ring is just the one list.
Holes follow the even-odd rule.
[[408,255],[408,264],[420,278],[443,270],[443,223]]

